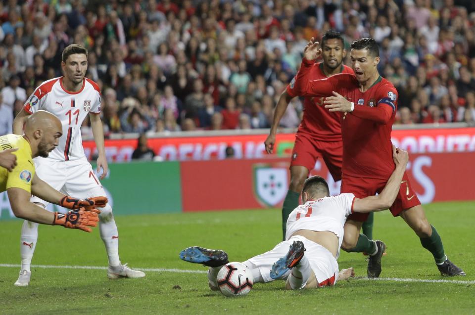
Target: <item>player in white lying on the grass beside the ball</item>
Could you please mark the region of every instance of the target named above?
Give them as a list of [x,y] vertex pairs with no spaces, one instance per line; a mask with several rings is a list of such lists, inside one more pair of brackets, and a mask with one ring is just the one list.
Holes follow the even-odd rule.
[[[286,240],[243,262],[252,271],[254,283],[286,279],[287,289],[298,290],[334,285],[337,279],[354,276],[353,268],[338,272],[336,260],[343,241],[343,225],[354,212],[381,211],[392,205],[409,158],[406,151],[394,146],[392,157],[396,168],[378,196],[359,199],[352,193],[343,193],[330,197],[326,180],[319,176],[307,179],[302,188],[304,204],[288,217]],[[381,269],[382,252],[377,255]],[[184,249],[180,258],[210,267],[209,285],[212,290],[218,289],[216,276],[228,263],[226,252],[194,246]]]

